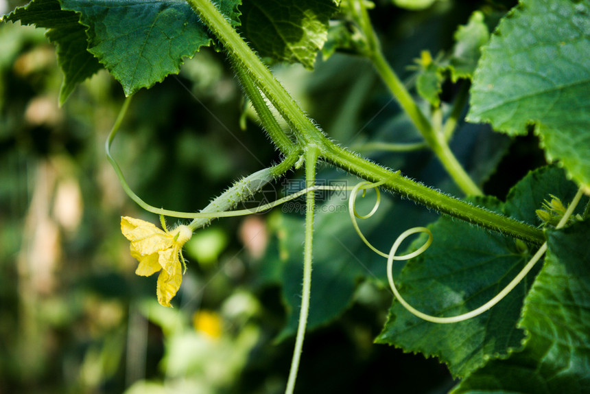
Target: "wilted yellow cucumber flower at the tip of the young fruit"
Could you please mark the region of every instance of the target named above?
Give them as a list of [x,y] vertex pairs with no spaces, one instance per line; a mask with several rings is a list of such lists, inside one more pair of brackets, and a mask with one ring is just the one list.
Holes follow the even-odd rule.
[[170,300],[182,281],[182,246],[191,239],[193,231],[184,225],[171,231],[161,230],[150,222],[123,216],[121,233],[131,241],[131,256],[139,261],[135,273],[149,277],[160,271],[156,290],[158,302],[172,308]]

